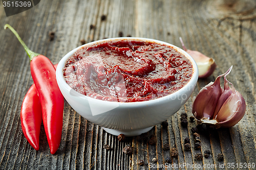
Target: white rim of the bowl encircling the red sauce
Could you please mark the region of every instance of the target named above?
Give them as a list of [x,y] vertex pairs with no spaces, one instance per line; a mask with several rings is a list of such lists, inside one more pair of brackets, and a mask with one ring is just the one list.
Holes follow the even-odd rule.
[[172,96],[177,96],[177,95],[179,95],[179,93],[183,94],[185,91],[187,91],[186,89],[189,88],[189,86],[190,87],[192,86],[193,90],[194,90],[194,88],[195,88],[197,83],[193,83],[193,82],[197,82],[198,75],[199,75],[198,66],[196,64],[196,61],[187,52],[185,52],[184,50],[182,50],[182,48],[180,48],[178,46],[175,46],[175,45],[170,44],[168,42],[156,40],[156,39],[141,38],[141,37],[106,38],[106,39],[101,39],[101,40],[89,42],[89,43],[86,43],[86,44],[83,44],[83,45],[80,45],[80,46],[74,48],[72,51],[70,51],[65,56],[63,56],[60,59],[58,65],[57,65],[57,68],[56,68],[56,79],[59,81],[59,82],[57,81],[58,86],[60,86],[59,83],[61,83],[61,85],[63,85],[62,87],[65,88],[66,90],[68,90],[68,91],[72,90],[72,88],[66,83],[66,81],[65,81],[65,79],[63,77],[62,72],[63,72],[63,68],[65,67],[65,64],[66,64],[67,60],[76,51],[78,51],[81,48],[86,47],[86,46],[90,46],[90,45],[94,45],[94,44],[98,44],[98,43],[102,43],[102,42],[107,42],[107,41],[116,41],[116,40],[140,40],[140,41],[146,41],[146,42],[155,42],[155,43],[164,44],[164,45],[168,45],[170,47],[173,47],[176,51],[178,51],[179,53],[183,54],[191,62],[192,66],[193,66],[193,74],[192,74],[190,80],[187,82],[187,84],[185,84],[179,90],[175,91],[172,94],[168,94],[168,95],[165,95],[165,96],[163,96],[161,98],[157,98],[157,99],[153,99],[153,100],[149,100],[149,101],[141,101],[141,102],[111,102],[111,101],[103,101],[103,100],[99,100],[99,99],[93,99],[93,98],[91,98],[91,97],[89,97],[87,95],[80,94],[79,92],[73,90],[74,92],[78,93],[78,95],[76,96],[77,98],[81,98],[83,100],[86,99],[86,100],[98,101],[100,103],[105,103],[105,104],[108,104],[108,105],[117,104],[118,103],[118,104],[121,104],[121,105],[124,105],[124,106],[134,106],[134,105],[136,105],[136,106],[147,106],[147,105],[152,105],[152,104],[155,104],[155,103],[160,103],[160,102],[163,102],[163,101],[168,101],[169,98],[172,99]]

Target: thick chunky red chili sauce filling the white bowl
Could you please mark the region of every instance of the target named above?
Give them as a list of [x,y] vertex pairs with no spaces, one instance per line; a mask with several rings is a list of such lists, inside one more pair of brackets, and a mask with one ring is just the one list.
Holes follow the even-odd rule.
[[174,48],[137,40],[83,47],[63,69],[74,90],[112,102],[161,98],[182,88],[192,74],[191,62]]

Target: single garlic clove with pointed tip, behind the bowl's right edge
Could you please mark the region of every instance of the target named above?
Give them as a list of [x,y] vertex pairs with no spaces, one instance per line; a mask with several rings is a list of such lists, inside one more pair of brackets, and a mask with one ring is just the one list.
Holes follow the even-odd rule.
[[199,78],[209,77],[212,74],[212,72],[214,72],[217,66],[215,60],[213,58],[209,58],[203,55],[200,52],[188,50],[185,47],[181,37],[180,42],[182,44],[183,50],[187,52],[196,61],[199,70]]

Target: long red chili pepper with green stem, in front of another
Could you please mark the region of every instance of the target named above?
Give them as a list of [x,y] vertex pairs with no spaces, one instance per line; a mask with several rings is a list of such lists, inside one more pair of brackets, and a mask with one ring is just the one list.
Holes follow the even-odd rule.
[[42,122],[51,154],[54,154],[58,150],[61,140],[64,107],[63,95],[56,81],[55,68],[47,57],[29,50],[10,25],[6,24],[4,28],[9,28],[14,33],[30,58],[31,75],[42,107]]

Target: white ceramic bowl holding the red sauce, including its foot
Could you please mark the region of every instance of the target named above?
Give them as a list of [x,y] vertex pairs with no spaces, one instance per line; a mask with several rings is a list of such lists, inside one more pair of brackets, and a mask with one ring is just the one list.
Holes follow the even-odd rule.
[[[141,40],[171,46],[190,60],[193,65],[193,76],[180,90],[159,99],[143,102],[120,103],[102,101],[92,99],[73,90],[63,78],[62,71],[67,60],[84,46],[110,40]],[[81,45],[65,55],[56,68],[56,78],[64,98],[82,117],[103,127],[106,132],[111,134],[119,135],[123,133],[126,136],[136,136],[151,130],[154,125],[168,119],[185,104],[197,84],[198,67],[194,59],[181,48],[163,41],[133,37],[109,38]]]

